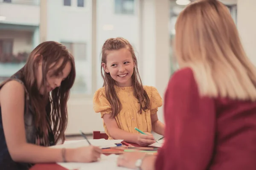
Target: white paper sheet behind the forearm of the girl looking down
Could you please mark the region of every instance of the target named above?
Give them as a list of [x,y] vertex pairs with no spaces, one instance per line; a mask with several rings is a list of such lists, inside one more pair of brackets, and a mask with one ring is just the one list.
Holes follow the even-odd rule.
[[[89,142],[101,148],[105,147],[115,147],[115,143],[121,143],[123,140],[105,140],[105,139],[89,139]],[[76,147],[84,147],[89,146],[87,140],[77,140],[77,141],[65,141],[64,144],[59,144],[52,146],[54,148],[76,148]]]

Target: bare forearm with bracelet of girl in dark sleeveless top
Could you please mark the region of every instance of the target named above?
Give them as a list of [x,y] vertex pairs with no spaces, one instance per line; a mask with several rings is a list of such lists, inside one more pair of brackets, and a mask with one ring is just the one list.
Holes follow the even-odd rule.
[[[72,161],[71,154],[73,149],[66,149],[66,161]],[[62,149],[42,147],[35,144],[24,144],[11,153],[12,159],[19,162],[45,163],[45,162],[62,162]]]

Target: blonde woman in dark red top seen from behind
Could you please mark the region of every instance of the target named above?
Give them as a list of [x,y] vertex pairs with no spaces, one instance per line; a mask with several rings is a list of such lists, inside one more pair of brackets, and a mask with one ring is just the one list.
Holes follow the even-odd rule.
[[180,70],[165,95],[165,143],[157,156],[128,153],[141,170],[256,170],[256,68],[226,6],[200,0],[177,18]]

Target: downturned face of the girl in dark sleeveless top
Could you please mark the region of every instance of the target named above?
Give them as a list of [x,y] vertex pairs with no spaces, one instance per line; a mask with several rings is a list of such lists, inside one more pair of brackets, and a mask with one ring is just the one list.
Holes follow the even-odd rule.
[[[49,67],[49,71],[46,75],[46,93],[49,93],[50,91],[54,90],[56,87],[59,87],[61,85],[61,82],[68,77],[71,71],[71,64],[70,62],[67,62],[64,69],[60,72],[57,71],[57,69],[61,66],[63,62],[63,59],[60,59],[57,63],[52,63]],[[38,89],[40,94],[44,93],[44,85],[42,83],[43,81],[43,74],[42,74],[42,61],[38,64],[38,71],[37,71],[37,83],[38,83]]]

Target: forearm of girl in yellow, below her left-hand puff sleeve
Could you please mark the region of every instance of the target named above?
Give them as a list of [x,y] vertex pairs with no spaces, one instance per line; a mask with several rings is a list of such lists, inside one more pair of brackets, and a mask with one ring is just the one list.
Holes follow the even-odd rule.
[[125,142],[137,143],[139,134],[126,132],[119,128],[112,128],[109,133],[113,139],[123,139]]

